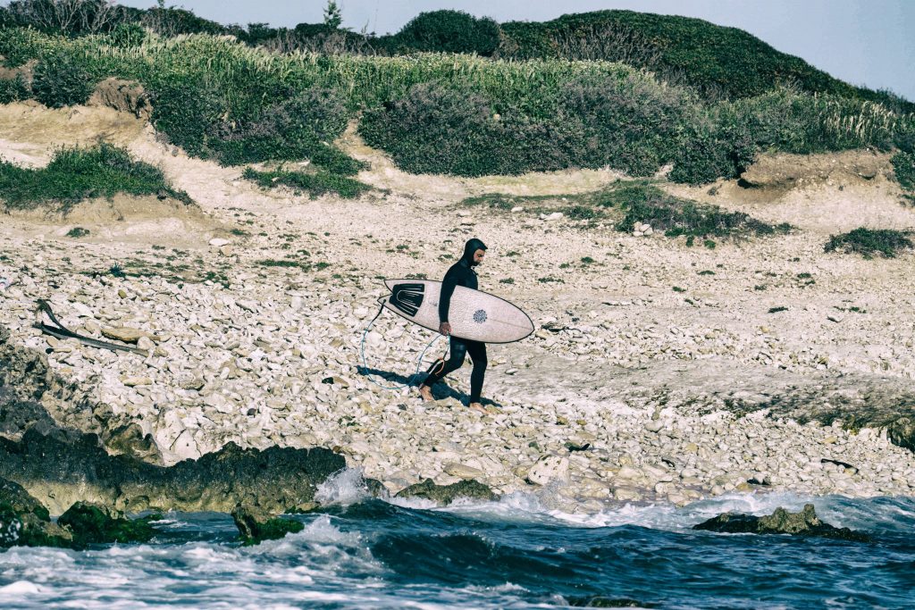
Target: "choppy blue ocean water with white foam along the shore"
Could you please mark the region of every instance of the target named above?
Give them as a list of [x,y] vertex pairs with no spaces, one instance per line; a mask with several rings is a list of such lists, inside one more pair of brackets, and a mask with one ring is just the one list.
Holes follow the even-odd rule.
[[[231,518],[170,513],[147,544],[0,553],[3,608],[913,608],[915,498],[731,495],[572,515],[545,498],[431,508],[351,473],[305,530],[245,547]],[[813,501],[870,543],[690,530]]]

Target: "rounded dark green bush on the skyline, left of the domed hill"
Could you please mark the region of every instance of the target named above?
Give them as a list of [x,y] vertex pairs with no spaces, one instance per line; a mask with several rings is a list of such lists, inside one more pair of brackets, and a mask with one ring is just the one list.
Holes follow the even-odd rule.
[[477,53],[490,57],[499,46],[499,24],[463,11],[420,13],[391,40],[403,50],[441,53]]

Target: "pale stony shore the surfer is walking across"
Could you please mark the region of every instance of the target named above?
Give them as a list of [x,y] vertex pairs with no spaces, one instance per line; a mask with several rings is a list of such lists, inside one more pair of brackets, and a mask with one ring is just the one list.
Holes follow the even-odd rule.
[[[0,291],[7,450],[55,442],[39,439],[54,426],[156,468],[323,447],[342,456],[335,466],[361,468],[392,494],[426,479],[475,480],[571,511],[683,505],[735,489],[915,493],[915,259],[823,253],[829,230],[874,214],[915,224],[879,174],[840,172],[768,202],[694,190],[797,227],[710,250],[458,205],[479,192],[562,193],[572,175],[431,187],[371,158],[361,179],[399,191],[308,200],[172,155],[148,133],[132,137],[132,151],[163,166],[205,221],[173,239],[161,222],[92,224],[79,209],[64,220],[0,218],[0,277],[16,283]],[[591,188],[615,178],[581,176]],[[824,229],[812,200],[826,210],[844,201],[845,215]],[[77,223],[88,237],[66,237]],[[462,403],[466,370],[431,403],[378,385],[412,380],[444,340],[417,364],[434,337],[384,314],[362,344],[386,292],[380,278],[436,278],[471,236],[490,245],[481,288],[537,326],[522,343],[490,348],[485,415]],[[71,330],[146,355],[42,335],[37,299]],[[29,467],[16,465],[0,476],[15,481]],[[76,462],[59,468],[81,472]],[[57,503],[39,499],[63,510],[80,496],[54,494]]]

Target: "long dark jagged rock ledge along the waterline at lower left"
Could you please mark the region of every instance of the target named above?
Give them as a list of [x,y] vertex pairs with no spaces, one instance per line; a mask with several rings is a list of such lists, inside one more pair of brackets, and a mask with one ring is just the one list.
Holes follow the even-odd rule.
[[128,455],[108,455],[94,434],[40,434],[16,442],[0,438],[0,477],[16,481],[59,513],[78,501],[125,512],[213,510],[239,503],[279,514],[314,507],[315,490],[346,466],[328,449],[220,451],[156,466]]

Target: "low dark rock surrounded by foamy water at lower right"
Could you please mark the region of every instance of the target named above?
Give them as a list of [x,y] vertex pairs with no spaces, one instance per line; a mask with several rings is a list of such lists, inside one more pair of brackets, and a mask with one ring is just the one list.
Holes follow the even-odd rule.
[[813,509],[813,504],[805,504],[801,512],[791,513],[784,508],[776,508],[767,517],[754,517],[740,513],[727,512],[713,519],[693,526],[694,530],[719,531],[729,534],[791,534],[792,536],[817,536],[837,540],[868,542],[866,533],[836,528],[823,523]]

